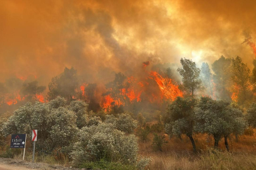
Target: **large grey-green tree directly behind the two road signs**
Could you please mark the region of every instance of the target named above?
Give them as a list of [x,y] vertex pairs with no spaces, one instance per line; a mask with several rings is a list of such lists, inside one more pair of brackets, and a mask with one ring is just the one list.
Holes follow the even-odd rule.
[[76,138],[76,114],[66,106],[66,100],[56,98],[49,103],[27,103],[14,111],[3,124],[5,136],[11,133],[32,134],[38,130],[37,147],[51,153],[56,147],[68,147]]

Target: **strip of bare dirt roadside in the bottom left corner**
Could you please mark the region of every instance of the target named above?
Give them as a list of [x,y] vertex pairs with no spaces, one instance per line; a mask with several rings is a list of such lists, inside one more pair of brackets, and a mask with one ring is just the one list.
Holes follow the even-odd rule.
[[[0,170],[81,170],[73,167],[63,167],[40,162],[27,162],[19,159],[9,159],[0,157]],[[85,169],[84,169],[85,170]]]

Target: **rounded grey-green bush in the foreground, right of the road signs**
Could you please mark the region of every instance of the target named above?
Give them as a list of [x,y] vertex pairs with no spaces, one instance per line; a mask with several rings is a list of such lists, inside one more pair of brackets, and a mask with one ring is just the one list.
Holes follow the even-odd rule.
[[75,164],[101,159],[126,164],[137,161],[137,138],[116,130],[110,123],[83,127],[79,134],[79,142],[76,142],[71,154]]

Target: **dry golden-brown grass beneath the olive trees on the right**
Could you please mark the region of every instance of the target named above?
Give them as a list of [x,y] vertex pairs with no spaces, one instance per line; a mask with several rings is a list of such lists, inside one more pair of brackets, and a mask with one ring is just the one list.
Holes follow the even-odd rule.
[[219,142],[219,150],[212,149],[214,139],[208,135],[195,135],[198,153],[193,154],[188,137],[183,140],[168,139],[163,152],[152,150],[152,134],[146,143],[140,143],[140,154],[150,157],[149,170],[169,169],[256,169],[256,138],[241,136],[239,142],[235,137],[229,138],[230,152],[226,152],[224,140]]

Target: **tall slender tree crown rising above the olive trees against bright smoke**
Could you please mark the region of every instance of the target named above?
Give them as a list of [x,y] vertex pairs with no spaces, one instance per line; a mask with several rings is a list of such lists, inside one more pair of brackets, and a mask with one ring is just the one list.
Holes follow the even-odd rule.
[[182,68],[178,68],[177,71],[180,72],[180,75],[182,77],[182,85],[187,93],[193,97],[195,91],[202,88],[202,81],[199,79],[200,69],[197,68],[195,62],[193,62],[192,60],[181,58],[180,62]]

